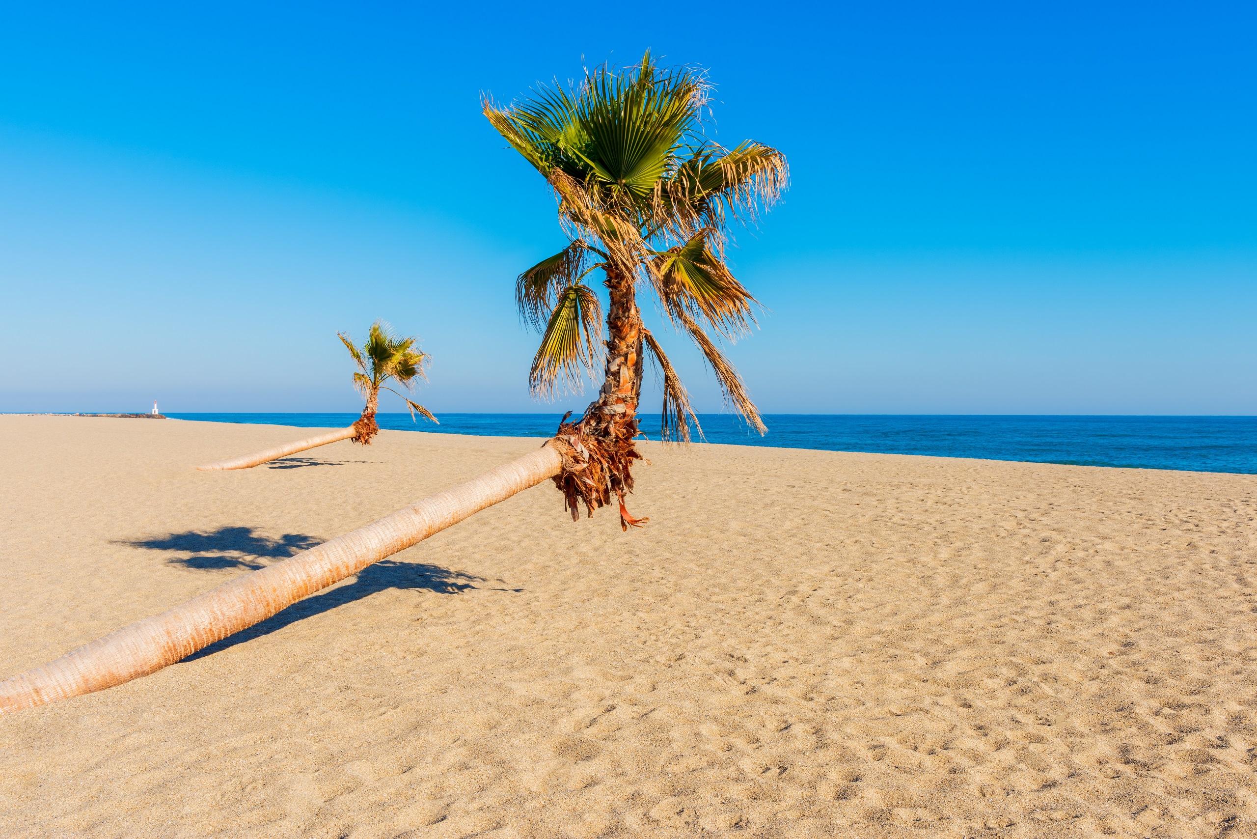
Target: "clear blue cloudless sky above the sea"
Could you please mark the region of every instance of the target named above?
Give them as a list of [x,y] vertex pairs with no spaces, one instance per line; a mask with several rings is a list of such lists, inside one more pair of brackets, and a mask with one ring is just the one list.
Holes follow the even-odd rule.
[[437,413],[579,410],[528,394],[514,277],[564,239],[479,101],[650,48],[791,165],[730,252],[764,411],[1257,414],[1254,42],[1251,3],[5,4],[0,411],[353,411],[376,318]]

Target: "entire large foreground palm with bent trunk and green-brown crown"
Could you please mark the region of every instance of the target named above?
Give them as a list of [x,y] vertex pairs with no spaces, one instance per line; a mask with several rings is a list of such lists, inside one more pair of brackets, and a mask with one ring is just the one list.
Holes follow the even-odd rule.
[[[786,185],[782,155],[755,142],[722,148],[705,138],[706,83],[691,69],[602,67],[576,89],[543,88],[499,108],[493,126],[537,169],[558,197],[569,244],[520,274],[517,297],[544,337],[530,381],[552,392],[602,366],[597,399],[576,421],[564,416],[546,444],[451,491],[231,580],[166,613],[132,624],[0,683],[0,712],[119,684],[152,673],[297,600],[396,553],[468,516],[553,478],[573,516],[620,502],[625,508],[644,358],[662,376],[664,433],[689,439],[696,418],[676,371],[642,322],[637,288],[657,296],[666,319],[698,343],[727,397],[757,429],[759,414],[710,332],[737,337],[753,299],[723,259],[727,223],[754,215]],[[608,292],[606,357],[601,304],[586,278],[601,270]]]

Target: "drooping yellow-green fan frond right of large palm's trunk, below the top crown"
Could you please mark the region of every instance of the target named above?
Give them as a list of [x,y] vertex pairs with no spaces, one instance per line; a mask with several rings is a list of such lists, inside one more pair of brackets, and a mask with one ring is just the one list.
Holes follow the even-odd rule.
[[732,340],[745,335],[755,322],[750,309],[755,298],[708,249],[710,233],[710,228],[704,228],[684,245],[671,248],[655,259],[656,291],[669,313],[678,307],[688,308]]

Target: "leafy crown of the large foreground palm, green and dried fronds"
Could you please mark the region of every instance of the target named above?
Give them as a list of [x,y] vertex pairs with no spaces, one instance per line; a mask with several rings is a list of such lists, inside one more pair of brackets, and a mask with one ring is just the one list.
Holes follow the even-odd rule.
[[[494,128],[554,190],[571,239],[517,282],[522,316],[543,332],[529,376],[534,394],[553,392],[561,382],[578,386],[585,370],[596,370],[602,314],[585,279],[602,269],[611,308],[627,304],[630,321],[636,284],[654,289],[666,319],[703,352],[730,406],[766,430],[711,333],[735,340],[754,322],[755,301],[725,264],[728,225],[754,220],[781,196],[786,158],[754,141],[724,148],[706,138],[708,92],[700,72],[660,70],[647,52],[634,68],[586,72],[576,88],[541,87],[509,107],[485,101]],[[628,299],[617,299],[625,296],[615,286],[625,282]],[[617,314],[625,313],[608,317],[612,333],[625,326]],[[698,426],[698,418],[685,387],[644,326],[636,345],[662,375],[665,438],[689,439],[686,419]]]

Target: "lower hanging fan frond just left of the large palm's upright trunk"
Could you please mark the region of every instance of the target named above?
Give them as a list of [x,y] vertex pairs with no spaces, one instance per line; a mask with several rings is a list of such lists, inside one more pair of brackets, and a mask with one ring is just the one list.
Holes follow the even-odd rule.
[[579,390],[582,374],[596,369],[601,337],[602,307],[597,296],[581,283],[564,288],[528,374],[533,394],[549,396],[561,384]]

